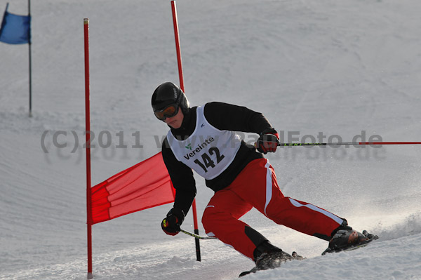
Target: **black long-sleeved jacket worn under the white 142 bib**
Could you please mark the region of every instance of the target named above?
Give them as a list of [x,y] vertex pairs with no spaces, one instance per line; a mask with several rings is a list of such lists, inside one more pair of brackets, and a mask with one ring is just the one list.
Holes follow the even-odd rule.
[[[178,129],[171,128],[171,133],[177,139],[184,140],[192,135],[196,127],[196,109],[192,107],[185,114],[182,126]],[[242,131],[246,133],[276,132],[269,121],[261,113],[254,112],[246,107],[230,105],[222,102],[210,102],[205,105],[204,114],[209,124],[221,131]],[[196,196],[196,182],[191,168],[178,161],[165,138],[162,142],[162,156],[176,189],[174,207],[189,211],[194,196]],[[206,180],[206,186],[218,192],[229,186],[244,167],[253,159],[262,158],[252,145],[246,145],[241,141],[241,146],[234,161],[218,177]]]

